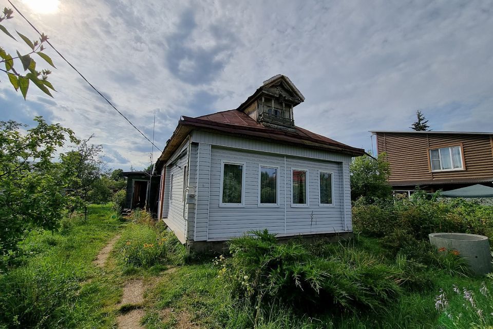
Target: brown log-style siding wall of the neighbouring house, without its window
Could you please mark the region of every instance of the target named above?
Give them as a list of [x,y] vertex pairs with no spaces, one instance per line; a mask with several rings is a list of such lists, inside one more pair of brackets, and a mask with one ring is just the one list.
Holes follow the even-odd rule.
[[[465,170],[431,172],[428,150],[463,145]],[[378,153],[387,152],[393,181],[440,181],[493,177],[490,135],[377,133]]]

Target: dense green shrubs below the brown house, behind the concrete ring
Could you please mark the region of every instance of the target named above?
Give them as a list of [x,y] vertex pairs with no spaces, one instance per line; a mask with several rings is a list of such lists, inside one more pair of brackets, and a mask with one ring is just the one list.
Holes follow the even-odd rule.
[[424,192],[370,205],[361,199],[353,206],[353,225],[363,235],[383,237],[383,245],[395,255],[402,248],[428,241],[428,234],[434,232],[493,237],[493,207],[464,199],[438,200],[437,195],[430,198]]

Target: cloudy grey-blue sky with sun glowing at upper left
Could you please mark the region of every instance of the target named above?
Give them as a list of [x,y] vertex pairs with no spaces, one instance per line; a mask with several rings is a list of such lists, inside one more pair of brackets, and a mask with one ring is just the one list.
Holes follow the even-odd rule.
[[[491,1],[12,2],[149,138],[156,115],[160,148],[181,115],[236,108],[279,73],[306,97],[298,126],[354,147],[408,130],[417,109],[435,131],[493,131]],[[35,38],[14,16],[4,25]],[[58,93],[24,101],[2,77],[0,120],[43,115],[94,134],[110,167],[146,167],[150,143],[46,52]]]

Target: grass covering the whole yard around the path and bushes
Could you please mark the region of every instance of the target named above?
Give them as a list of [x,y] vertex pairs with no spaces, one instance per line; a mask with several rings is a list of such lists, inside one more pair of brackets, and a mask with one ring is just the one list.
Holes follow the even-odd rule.
[[[387,308],[341,313],[327,306],[327,312],[308,317],[272,306],[254,319],[251,306],[234,298],[224,279],[218,277],[212,257],[204,256],[200,261],[185,264],[182,249],[155,248],[168,239],[162,227],[124,223],[113,215],[109,205],[91,206],[87,221],[79,216],[64,222],[64,229],[58,233],[31,233],[23,245],[28,254],[23,264],[0,277],[0,306],[4,307],[0,328],[36,324],[40,328],[115,328],[117,316],[124,312],[117,306],[122,288],[133,279],[144,283],[144,301],[136,307],[143,310],[141,323],[148,329],[240,329],[252,327],[252,323],[265,329],[493,325],[490,279],[450,276],[435,268],[425,269],[432,281],[428,289],[415,292],[404,289]],[[108,263],[104,267],[95,266],[96,255],[117,234],[122,237]],[[122,264],[122,259],[129,262],[128,257],[122,258],[122,250],[146,241],[144,249],[155,248],[152,252],[142,258],[141,249],[132,249],[133,263]],[[354,247],[378,257],[383,252],[376,239],[359,238]],[[139,259],[148,263],[139,264]],[[455,287],[461,294],[454,291]],[[445,291],[447,313],[435,309],[439,289]],[[476,308],[464,299],[463,289],[473,291]],[[477,309],[483,311],[481,315]]]

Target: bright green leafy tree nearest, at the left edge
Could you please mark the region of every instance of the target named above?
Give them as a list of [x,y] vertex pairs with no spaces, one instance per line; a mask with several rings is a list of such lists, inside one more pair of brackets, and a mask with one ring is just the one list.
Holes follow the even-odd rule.
[[30,230],[58,227],[65,209],[77,203],[67,193],[76,179],[73,172],[53,162],[58,148],[79,141],[72,130],[47,124],[37,126],[0,121],[0,267],[5,268],[18,252],[17,244]]

